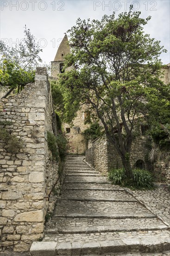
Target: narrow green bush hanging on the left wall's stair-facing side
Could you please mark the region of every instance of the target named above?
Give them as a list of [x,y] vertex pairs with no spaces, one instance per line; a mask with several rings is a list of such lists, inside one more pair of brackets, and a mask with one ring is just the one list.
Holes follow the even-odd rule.
[[48,147],[52,153],[53,159],[58,161],[57,138],[53,133],[51,133],[49,131],[47,131],[47,143],[48,143]]

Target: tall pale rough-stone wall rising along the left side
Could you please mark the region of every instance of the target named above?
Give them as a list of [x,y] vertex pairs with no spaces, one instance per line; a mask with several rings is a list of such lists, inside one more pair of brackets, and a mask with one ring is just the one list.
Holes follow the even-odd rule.
[[47,131],[53,132],[46,70],[37,68],[35,83],[0,104],[0,121],[11,121],[6,129],[23,141],[15,155],[0,141],[0,250],[27,251],[43,236],[56,195],[50,202],[46,197],[59,175],[46,141]]

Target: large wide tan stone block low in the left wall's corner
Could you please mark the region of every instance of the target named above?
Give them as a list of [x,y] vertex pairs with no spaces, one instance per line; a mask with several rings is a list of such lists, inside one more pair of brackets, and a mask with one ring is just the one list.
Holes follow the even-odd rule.
[[20,213],[14,218],[15,222],[43,222],[44,221],[44,211],[29,211]]

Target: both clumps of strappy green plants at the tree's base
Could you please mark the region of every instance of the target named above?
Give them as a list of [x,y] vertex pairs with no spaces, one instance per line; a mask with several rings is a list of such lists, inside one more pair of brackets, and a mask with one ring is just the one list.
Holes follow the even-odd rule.
[[126,176],[124,168],[113,169],[108,173],[108,178],[113,184],[122,185],[132,188],[149,188],[153,187],[153,177],[150,172],[143,169],[133,169],[132,178]]

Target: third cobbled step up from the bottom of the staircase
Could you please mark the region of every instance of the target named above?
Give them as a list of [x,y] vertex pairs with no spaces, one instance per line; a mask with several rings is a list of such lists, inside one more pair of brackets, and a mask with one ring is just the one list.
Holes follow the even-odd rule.
[[81,202],[59,199],[53,216],[58,214],[106,214],[106,215],[128,215],[150,213],[138,202]]

